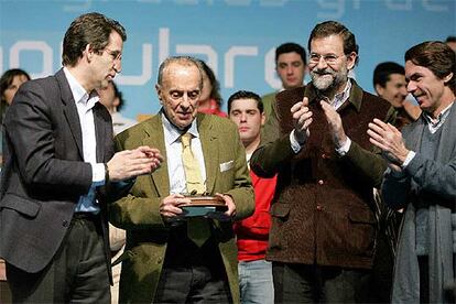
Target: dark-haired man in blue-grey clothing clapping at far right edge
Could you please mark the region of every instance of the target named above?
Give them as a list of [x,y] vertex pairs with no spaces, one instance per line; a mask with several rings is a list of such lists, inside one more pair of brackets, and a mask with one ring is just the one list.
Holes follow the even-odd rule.
[[[456,54],[443,42],[423,42],[405,53],[408,90],[423,113],[402,129],[378,119],[370,141],[388,170],[384,203],[405,208],[399,237],[392,303],[446,303],[455,283]],[[454,302],[454,298],[448,301]]]

